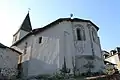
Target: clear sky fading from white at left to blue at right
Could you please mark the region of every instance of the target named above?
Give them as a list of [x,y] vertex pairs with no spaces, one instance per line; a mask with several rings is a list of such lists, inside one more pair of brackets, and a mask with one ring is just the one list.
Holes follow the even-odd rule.
[[89,19],[100,29],[103,50],[120,46],[119,0],[0,0],[0,42],[11,46],[13,34],[19,29],[30,8],[33,29],[58,19],[70,17]]

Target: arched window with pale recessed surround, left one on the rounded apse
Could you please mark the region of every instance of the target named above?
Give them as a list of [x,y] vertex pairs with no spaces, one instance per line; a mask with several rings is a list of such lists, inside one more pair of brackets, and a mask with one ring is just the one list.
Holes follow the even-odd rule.
[[81,25],[77,25],[76,35],[77,35],[77,40],[85,41],[85,39],[86,39],[85,31],[84,31],[84,28]]

